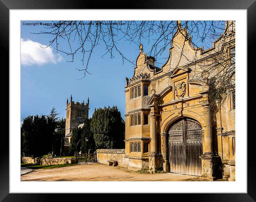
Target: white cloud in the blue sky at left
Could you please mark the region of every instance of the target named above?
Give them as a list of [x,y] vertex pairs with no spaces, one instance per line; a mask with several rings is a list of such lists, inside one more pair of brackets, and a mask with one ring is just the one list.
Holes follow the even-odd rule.
[[56,64],[63,60],[60,54],[54,54],[51,47],[40,44],[30,39],[21,39],[20,61],[21,65],[44,65],[47,63]]

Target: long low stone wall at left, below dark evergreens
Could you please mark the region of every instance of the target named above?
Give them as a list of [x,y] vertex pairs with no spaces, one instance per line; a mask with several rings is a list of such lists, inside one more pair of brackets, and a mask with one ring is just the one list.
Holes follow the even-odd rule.
[[51,165],[60,165],[75,163],[75,158],[47,158],[47,157],[21,157],[21,163],[31,163],[35,165],[51,166]]

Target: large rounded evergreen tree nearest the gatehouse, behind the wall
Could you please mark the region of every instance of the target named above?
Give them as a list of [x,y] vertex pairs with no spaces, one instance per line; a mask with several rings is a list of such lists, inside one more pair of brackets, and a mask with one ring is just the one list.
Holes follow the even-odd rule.
[[117,106],[95,109],[90,127],[97,149],[124,148],[124,123]]

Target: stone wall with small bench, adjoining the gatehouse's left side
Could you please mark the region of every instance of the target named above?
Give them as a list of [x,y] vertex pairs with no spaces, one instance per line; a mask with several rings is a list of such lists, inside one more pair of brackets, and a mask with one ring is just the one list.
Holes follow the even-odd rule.
[[108,165],[108,161],[117,161],[117,165],[120,167],[127,167],[125,165],[125,149],[115,149],[115,150],[107,150],[100,149],[96,151],[97,153],[97,161],[99,163],[103,163]]

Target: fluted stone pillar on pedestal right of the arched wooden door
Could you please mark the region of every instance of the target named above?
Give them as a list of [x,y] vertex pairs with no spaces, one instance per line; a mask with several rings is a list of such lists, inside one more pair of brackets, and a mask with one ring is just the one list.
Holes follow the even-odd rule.
[[200,156],[202,163],[202,175],[200,178],[207,180],[215,180],[219,176],[218,169],[218,155],[213,153],[212,150],[212,127],[211,127],[211,114],[209,103],[205,102],[203,105],[205,128],[202,129],[203,133],[203,155]]

